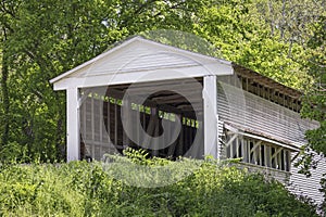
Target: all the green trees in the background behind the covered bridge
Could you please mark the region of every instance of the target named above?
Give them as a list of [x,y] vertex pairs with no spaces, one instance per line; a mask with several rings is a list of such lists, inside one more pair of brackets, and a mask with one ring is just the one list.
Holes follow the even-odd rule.
[[147,30],[195,34],[212,55],[317,91],[308,111],[318,103],[325,114],[325,91],[311,88],[325,72],[324,9],[299,0],[1,1],[1,159],[64,159],[65,95],[49,80]]

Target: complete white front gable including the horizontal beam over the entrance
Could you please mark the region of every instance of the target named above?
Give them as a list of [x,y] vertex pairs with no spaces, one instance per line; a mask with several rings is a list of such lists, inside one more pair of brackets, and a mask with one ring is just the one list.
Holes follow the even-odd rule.
[[64,90],[233,74],[231,62],[134,37],[50,82]]

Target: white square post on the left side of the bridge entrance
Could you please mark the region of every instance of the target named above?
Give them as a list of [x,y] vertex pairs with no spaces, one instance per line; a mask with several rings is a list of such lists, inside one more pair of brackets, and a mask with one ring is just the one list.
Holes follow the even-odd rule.
[[66,161],[80,158],[79,92],[77,87],[66,90]]

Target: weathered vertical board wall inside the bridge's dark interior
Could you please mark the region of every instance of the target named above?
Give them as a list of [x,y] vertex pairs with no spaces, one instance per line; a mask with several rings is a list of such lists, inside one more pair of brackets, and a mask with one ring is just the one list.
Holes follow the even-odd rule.
[[[121,112],[124,105],[121,104],[121,99],[109,98],[109,100],[103,100],[101,98],[103,97],[93,97],[90,94],[82,103],[80,155],[101,159],[105,153],[121,153],[126,146],[139,148],[139,141],[137,141],[138,144],[131,141],[123,128]],[[172,116],[178,116],[181,119],[181,131],[177,140],[170,146],[158,152],[153,151],[151,154],[161,157],[177,157],[184,156],[189,151],[187,155],[202,157],[202,151],[198,150],[198,146],[202,145],[201,122],[196,122],[184,114],[175,114],[170,111],[158,110],[156,107],[143,107],[140,110],[139,105],[134,105],[126,115],[131,119],[139,112],[142,128],[152,137],[160,136],[163,132],[161,125],[163,119],[165,119],[167,125],[165,133],[172,137],[175,133],[173,128],[168,127],[173,124]],[[154,127],[150,127],[151,122],[153,122],[151,125],[154,125]],[[139,138],[140,129],[134,127],[131,133],[136,138]],[[196,135],[198,135],[197,138]],[[197,139],[196,141],[199,144],[195,145],[193,149],[191,144],[195,142],[195,139]]]

